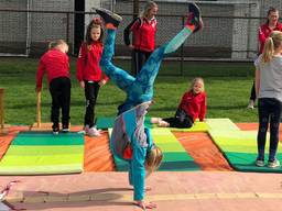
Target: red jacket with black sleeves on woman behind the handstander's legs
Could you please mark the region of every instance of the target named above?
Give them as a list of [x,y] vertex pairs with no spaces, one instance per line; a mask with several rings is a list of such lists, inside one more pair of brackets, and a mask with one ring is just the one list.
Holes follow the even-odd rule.
[[144,52],[154,51],[154,40],[156,32],[156,19],[148,20],[140,18],[133,20],[124,30],[124,42],[127,45],[129,42],[129,30],[133,33],[133,46],[135,49]]

